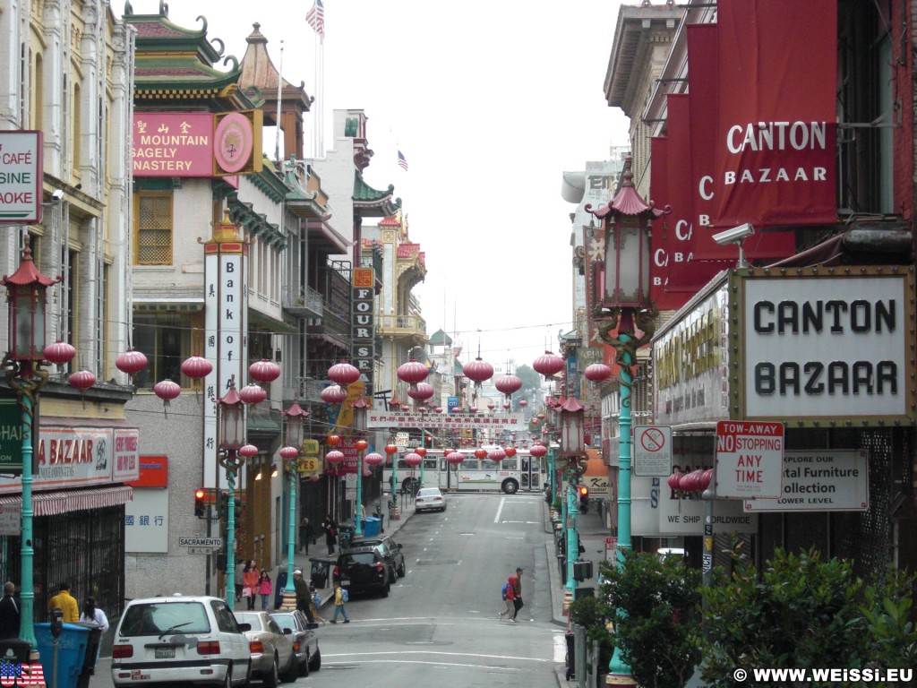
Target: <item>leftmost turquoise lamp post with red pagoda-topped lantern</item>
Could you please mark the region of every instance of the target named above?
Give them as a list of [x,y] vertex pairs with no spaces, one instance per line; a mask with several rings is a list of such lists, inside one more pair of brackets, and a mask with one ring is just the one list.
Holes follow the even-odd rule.
[[69,344],[51,345],[45,352],[45,304],[47,290],[52,284],[61,282],[39,272],[32,261],[32,250],[26,240],[22,261],[17,271],[2,284],[6,287],[6,301],[9,308],[9,350],[0,366],[4,369],[6,383],[16,392],[17,403],[22,410],[19,435],[22,440],[22,465],[7,465],[5,472],[17,469],[22,472],[22,549],[20,549],[21,610],[19,614],[19,639],[35,648],[35,588],[34,556],[32,549],[32,427],[33,411],[39,401],[41,388],[48,383],[48,371],[41,366],[46,360],[51,363],[66,363],[76,354]]

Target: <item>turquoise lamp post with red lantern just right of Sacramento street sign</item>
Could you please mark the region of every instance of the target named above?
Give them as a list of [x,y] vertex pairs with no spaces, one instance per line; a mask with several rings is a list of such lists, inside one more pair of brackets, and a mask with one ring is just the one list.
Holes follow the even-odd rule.
[[245,443],[245,408],[236,391],[235,378],[229,390],[217,402],[219,411],[219,461],[226,471],[226,605],[235,608],[236,594],[236,476],[246,459],[255,456],[258,448]]

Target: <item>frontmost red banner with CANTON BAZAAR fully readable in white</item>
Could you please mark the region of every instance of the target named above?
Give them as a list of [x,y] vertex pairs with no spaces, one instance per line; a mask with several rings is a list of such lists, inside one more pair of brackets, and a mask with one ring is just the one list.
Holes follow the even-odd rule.
[[716,35],[714,227],[836,222],[836,0],[721,0]]

